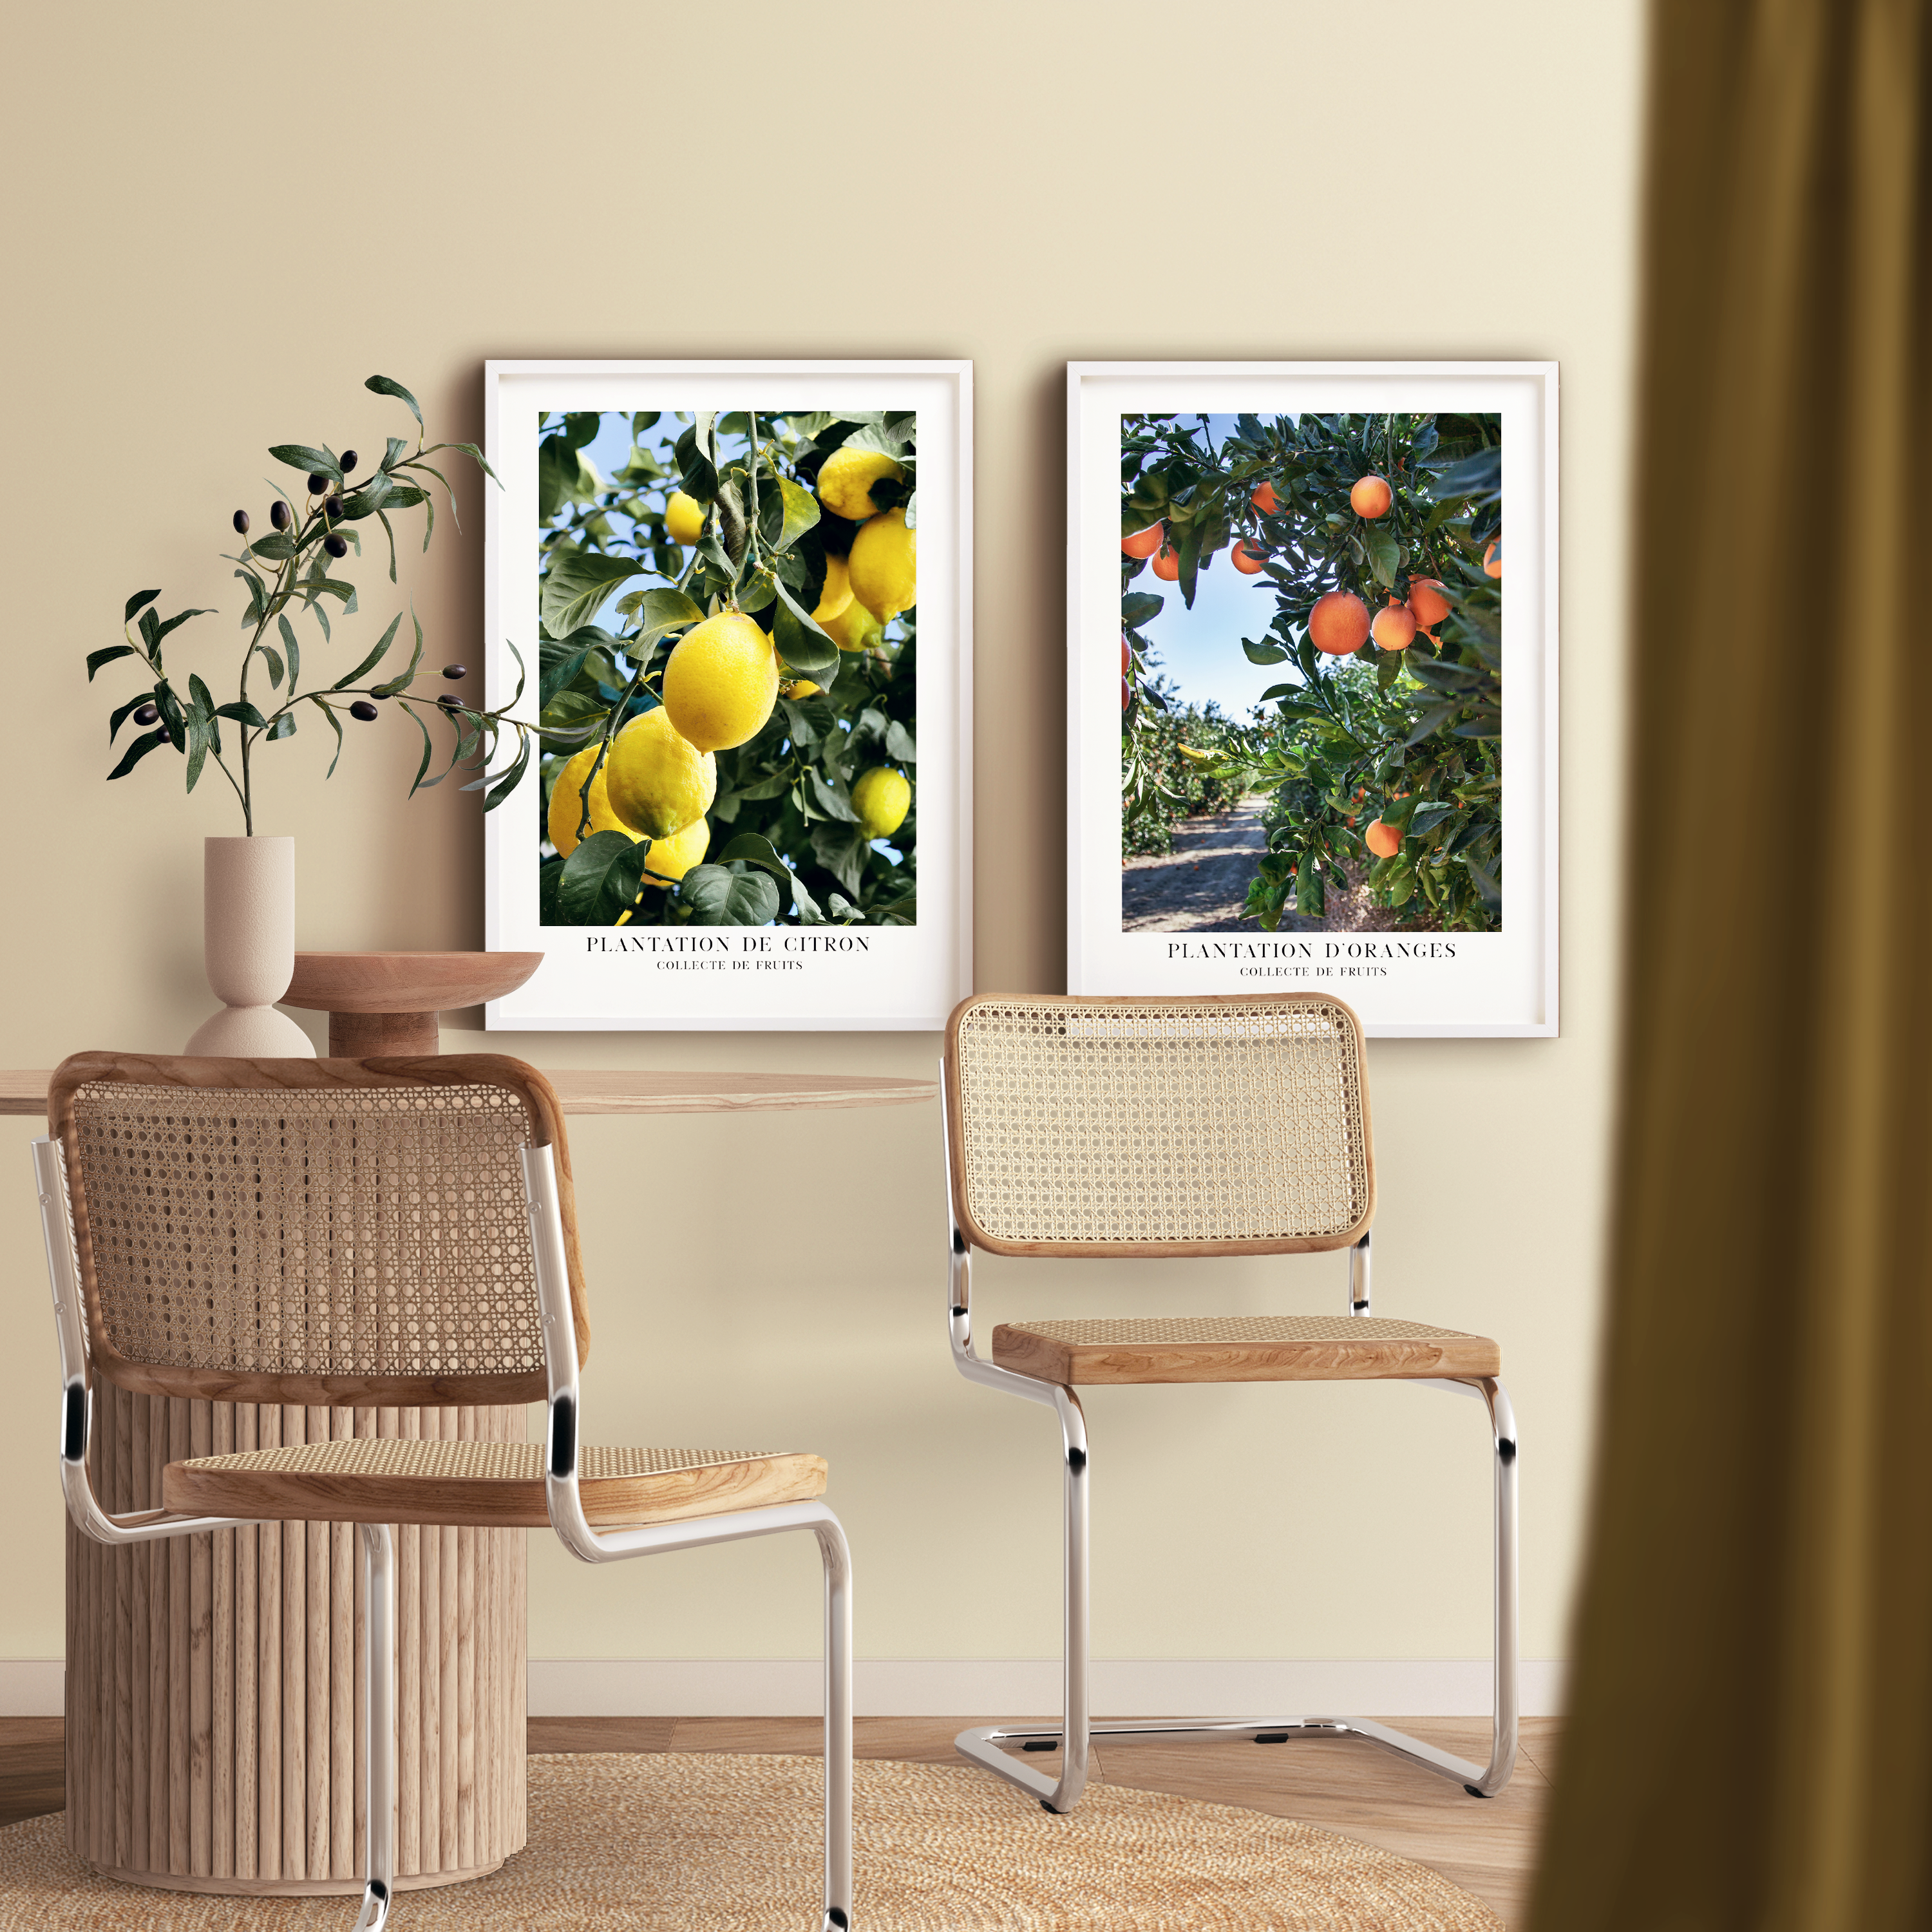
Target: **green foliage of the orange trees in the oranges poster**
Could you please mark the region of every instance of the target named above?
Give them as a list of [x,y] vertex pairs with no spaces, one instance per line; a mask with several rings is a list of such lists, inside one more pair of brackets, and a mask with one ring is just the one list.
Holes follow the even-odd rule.
[[[1200,417],[1192,427],[1175,415],[1122,419],[1122,535],[1167,522],[1188,605],[1231,539],[1264,558],[1275,591],[1267,632],[1240,647],[1250,663],[1291,667],[1294,682],[1264,694],[1256,723],[1225,734],[1213,767],[1269,792],[1267,854],[1246,904],[1269,931],[1289,910],[1321,918],[1350,864],[1366,871],[1370,896],[1408,922],[1501,925],[1503,591],[1482,568],[1501,531],[1495,435],[1493,415],[1240,415],[1215,448]],[[1385,516],[1350,508],[1364,475],[1391,485]],[[1269,512],[1252,500],[1264,483]],[[1136,661],[1146,639],[1134,626],[1159,609],[1157,593],[1134,583],[1144,570],[1122,554],[1121,611]],[[1374,612],[1422,578],[1439,582],[1449,605],[1434,638],[1418,632],[1405,651],[1364,643],[1352,659],[1323,657],[1308,639],[1308,614],[1329,591],[1350,591]],[[1146,696],[1136,688],[1122,715],[1128,773],[1157,730]],[[1378,815],[1403,835],[1387,858],[1364,842]]]

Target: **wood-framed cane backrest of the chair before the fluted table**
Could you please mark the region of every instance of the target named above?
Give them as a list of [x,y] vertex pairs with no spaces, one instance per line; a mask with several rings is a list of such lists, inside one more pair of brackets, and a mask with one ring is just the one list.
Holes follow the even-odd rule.
[[79,1053],[48,1121],[93,1368],[147,1395],[444,1406],[545,1395],[522,1150],[556,1094],[495,1053],[230,1061]]

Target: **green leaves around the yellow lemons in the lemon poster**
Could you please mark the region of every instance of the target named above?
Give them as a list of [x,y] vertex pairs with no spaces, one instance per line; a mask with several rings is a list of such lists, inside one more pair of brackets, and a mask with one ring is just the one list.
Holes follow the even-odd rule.
[[[916,794],[898,831],[873,842],[860,831],[852,782],[873,765],[910,773],[918,763],[918,612],[900,612],[866,651],[840,651],[811,616],[827,560],[848,554],[860,527],[819,504],[821,464],[837,448],[891,456],[904,479],[881,477],[871,500],[902,506],[916,526],[916,415],[639,412],[630,456],[609,479],[583,454],[603,417],[545,415],[537,427],[545,802],[564,761],[597,744],[580,784],[580,831],[587,825],[611,740],[659,701],[670,651],[701,618],[724,609],[757,618],[786,680],[763,730],[715,753],[705,864],[674,887],[653,887],[636,908],[624,879],[605,879],[595,895],[578,883],[609,867],[589,848],[622,833],[599,833],[558,860],[539,829],[543,922],[916,923]],[[665,524],[674,491],[705,510],[690,551]],[[628,585],[611,607],[616,626],[591,622],[614,585]],[[817,690],[796,690],[806,682]]]

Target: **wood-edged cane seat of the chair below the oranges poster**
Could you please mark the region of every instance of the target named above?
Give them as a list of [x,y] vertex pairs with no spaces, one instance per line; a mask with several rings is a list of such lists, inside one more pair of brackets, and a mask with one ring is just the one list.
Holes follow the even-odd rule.
[[1037,1381],[1383,1381],[1499,1376],[1488,1335],[1374,1316],[1003,1321],[993,1360]]

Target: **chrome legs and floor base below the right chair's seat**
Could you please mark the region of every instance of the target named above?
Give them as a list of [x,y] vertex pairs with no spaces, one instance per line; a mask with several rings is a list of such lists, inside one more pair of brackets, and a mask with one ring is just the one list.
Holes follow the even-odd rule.
[[[1499,1381],[1432,1381],[1430,1387],[1474,1395],[1488,1405],[1495,1470],[1493,1528],[1493,1719],[1490,1762],[1470,1764],[1368,1718],[1165,1718],[1144,1723],[1094,1723],[1088,1716],[1088,1482],[1086,1422],[1072,1389],[1055,1389],[1055,1408],[1066,1451],[1066,1650],[1065,1718],[1059,1727],[983,1725],[960,1731],[954,1748],[1022,1791],[1032,1791],[1049,1812],[1068,1812],[1088,1781],[1088,1748],[1094,1737],[1188,1739],[1246,1737],[1256,1745],[1283,1745],[1291,1737],[1360,1737],[1406,1758],[1422,1770],[1459,1783],[1474,1799],[1493,1799],[1517,1766],[1517,1420]],[[1001,1745],[1039,1752],[1066,1747],[1059,1781],[1007,1756]]]

